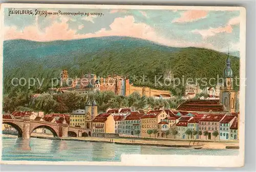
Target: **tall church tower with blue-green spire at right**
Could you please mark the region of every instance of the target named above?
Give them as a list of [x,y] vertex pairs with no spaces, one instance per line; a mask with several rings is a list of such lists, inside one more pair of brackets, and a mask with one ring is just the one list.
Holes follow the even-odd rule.
[[237,92],[233,90],[233,70],[231,69],[231,60],[229,53],[224,70],[224,88],[221,90],[220,103],[225,105],[229,112],[236,112]]

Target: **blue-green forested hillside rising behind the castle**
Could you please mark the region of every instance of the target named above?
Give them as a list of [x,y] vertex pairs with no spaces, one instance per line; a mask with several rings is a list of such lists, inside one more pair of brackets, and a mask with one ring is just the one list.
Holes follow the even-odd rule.
[[[147,81],[154,82],[155,76],[171,70],[178,78],[216,78],[223,76],[226,58],[226,54],[204,48],[168,47],[128,37],[9,40],[4,42],[4,92],[9,92],[14,77],[45,78],[49,83],[62,68],[68,69],[71,77],[88,72],[100,76],[118,73],[145,75]],[[239,58],[231,57],[231,62],[234,75],[239,76]]]

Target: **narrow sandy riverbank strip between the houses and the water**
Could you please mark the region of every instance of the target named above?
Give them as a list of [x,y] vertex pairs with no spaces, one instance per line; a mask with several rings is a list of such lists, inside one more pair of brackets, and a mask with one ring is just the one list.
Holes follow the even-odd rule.
[[[17,137],[13,135],[3,135],[4,137]],[[186,148],[186,149],[239,149],[239,142],[213,142],[205,140],[169,140],[169,139],[143,139],[143,138],[100,138],[100,137],[67,137],[54,138],[52,135],[35,134],[31,137],[41,139],[58,139],[70,141],[84,141],[84,142],[106,142],[114,144],[126,145],[150,145],[150,146],[165,146],[170,148]]]

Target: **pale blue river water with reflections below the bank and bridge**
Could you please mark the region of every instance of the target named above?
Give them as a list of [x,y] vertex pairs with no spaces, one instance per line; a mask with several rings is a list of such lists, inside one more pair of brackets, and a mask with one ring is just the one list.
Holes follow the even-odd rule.
[[3,137],[6,161],[121,161],[122,154],[236,156],[239,150],[195,150],[159,146],[120,145],[31,138]]

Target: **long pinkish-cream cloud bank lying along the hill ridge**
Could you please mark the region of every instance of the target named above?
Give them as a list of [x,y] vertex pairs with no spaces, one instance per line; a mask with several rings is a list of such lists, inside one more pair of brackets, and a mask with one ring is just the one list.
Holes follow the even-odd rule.
[[[127,36],[134,38],[141,38],[157,42],[162,45],[174,47],[205,47],[216,50],[216,47],[211,43],[185,41],[180,38],[167,39],[165,36],[160,35],[158,30],[155,30],[146,23],[136,23],[134,16],[117,17],[110,24],[110,29],[102,28],[95,33],[78,34],[79,29],[84,27],[82,24],[78,29],[69,29],[67,18],[63,18],[61,22],[53,22],[51,26],[46,27],[44,31],[39,30],[36,26],[25,27],[20,32],[15,27],[5,28],[5,40],[8,39],[27,39],[33,41],[53,41],[53,40],[71,40],[71,39],[84,39],[92,37],[105,37],[105,36]],[[227,28],[226,28],[227,29]],[[217,31],[214,31],[217,32]]]

